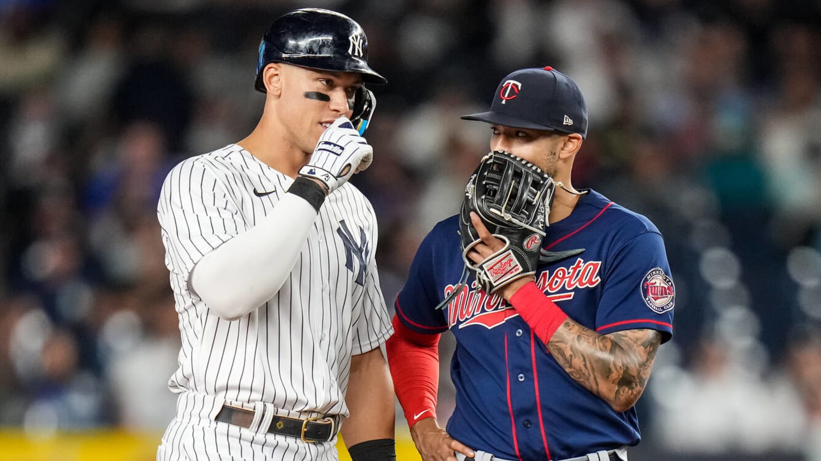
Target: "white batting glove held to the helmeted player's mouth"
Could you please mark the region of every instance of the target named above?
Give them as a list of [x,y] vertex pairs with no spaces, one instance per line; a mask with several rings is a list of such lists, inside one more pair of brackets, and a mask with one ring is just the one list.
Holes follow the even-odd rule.
[[310,161],[300,168],[300,176],[319,180],[330,194],[354,173],[364,171],[373,160],[374,148],[350,120],[341,116],[319,136]]

